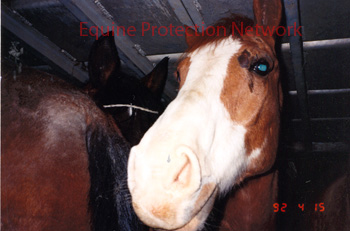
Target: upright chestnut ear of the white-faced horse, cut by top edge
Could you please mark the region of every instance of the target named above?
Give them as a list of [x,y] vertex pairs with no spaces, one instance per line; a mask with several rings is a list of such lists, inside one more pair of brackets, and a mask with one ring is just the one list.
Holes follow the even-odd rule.
[[281,0],[254,0],[254,17],[257,25],[275,30],[282,15]]

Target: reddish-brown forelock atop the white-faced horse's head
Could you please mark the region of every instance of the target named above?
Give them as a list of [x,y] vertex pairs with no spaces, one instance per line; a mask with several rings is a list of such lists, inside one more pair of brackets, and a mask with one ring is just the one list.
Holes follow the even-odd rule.
[[[218,43],[229,36],[233,36],[234,38],[241,38],[241,34],[245,32],[246,28],[253,27],[254,25],[254,20],[246,16],[240,14],[231,14],[229,17],[218,20],[212,26],[208,26],[203,33],[199,32],[199,35],[194,35],[196,39],[186,50],[186,53],[193,52],[199,47],[203,47],[211,43],[214,43],[215,46],[217,46]],[[211,35],[213,33],[212,27],[215,28],[214,35]]]

